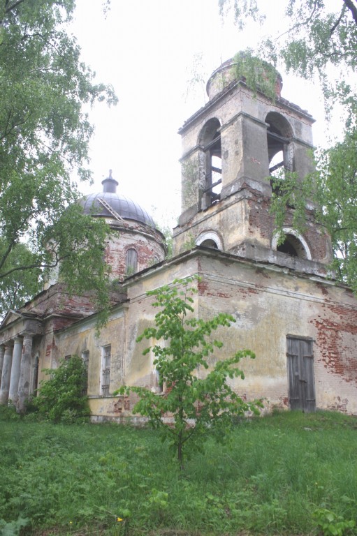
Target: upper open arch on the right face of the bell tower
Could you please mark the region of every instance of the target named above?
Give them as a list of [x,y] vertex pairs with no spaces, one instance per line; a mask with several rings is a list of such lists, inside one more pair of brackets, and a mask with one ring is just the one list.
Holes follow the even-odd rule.
[[281,169],[293,171],[293,147],[290,143],[293,131],[289,121],[276,112],[270,112],[265,123],[268,123],[269,173],[272,177],[280,177]]

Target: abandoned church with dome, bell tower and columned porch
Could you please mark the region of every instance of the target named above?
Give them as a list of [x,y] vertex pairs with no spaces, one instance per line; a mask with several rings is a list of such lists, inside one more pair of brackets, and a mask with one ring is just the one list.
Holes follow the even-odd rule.
[[246,348],[256,354],[240,364],[245,380],[232,380],[240,396],[263,399],[266,410],[357,414],[357,300],[329,273],[330,238],[314,221],[314,200],[306,200],[303,234],[286,208],[281,245],[270,212],[270,175],[279,167],[300,177],[313,169],[314,119],[281,90],[278,76],[274,99],[251,91],[232,60],[211,75],[207,104],[179,131],[182,214],[172,258],[151,216],[122,195],[111,173],[101,193],[80,200],[87,214],[117,230],[105,251],[119,281],[110,318],[96,336],[89,299],[69,297],[52,274],[39,295],[3,319],[0,403],[22,410],[43,368],[78,355],[87,365],[92,420],[131,418],[131,399],[113,396],[116,389],[162,389],[154,357],[143,355],[147,341],[136,343],[156,313],[146,292],[198,274],[195,314],[236,320],[219,332],[217,359]]

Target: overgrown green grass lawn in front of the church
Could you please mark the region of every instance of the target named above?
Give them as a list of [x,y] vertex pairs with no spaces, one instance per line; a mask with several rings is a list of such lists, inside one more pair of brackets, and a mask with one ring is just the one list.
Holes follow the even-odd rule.
[[242,421],[181,475],[148,429],[3,420],[0,438],[0,535],[357,534],[356,417]]

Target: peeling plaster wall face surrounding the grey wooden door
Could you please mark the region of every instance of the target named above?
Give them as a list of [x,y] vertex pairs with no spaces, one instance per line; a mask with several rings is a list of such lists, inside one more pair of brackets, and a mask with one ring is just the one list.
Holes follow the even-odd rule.
[[[256,359],[242,364],[240,392],[288,405],[286,335],[314,340],[316,407],[357,412],[357,301],[337,285],[284,271],[201,260],[200,315],[225,311],[236,323],[224,355],[249,348]],[[234,336],[232,336],[232,332]],[[226,352],[226,353],[225,353]]]

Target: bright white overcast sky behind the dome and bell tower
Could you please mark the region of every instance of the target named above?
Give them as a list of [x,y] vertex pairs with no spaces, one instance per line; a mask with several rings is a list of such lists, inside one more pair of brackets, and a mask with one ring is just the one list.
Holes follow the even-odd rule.
[[[103,15],[102,0],[77,0],[73,33],[82,60],[98,82],[112,84],[116,107],[101,103],[90,113],[95,125],[91,143],[94,184],[101,191],[108,170],[118,191],[143,205],[159,223],[175,225],[180,214],[180,136],[184,121],[207,102],[205,84],[189,89],[197,58],[205,82],[221,61],[256,47],[260,36],[284,27],[284,0],[262,2],[270,9],[270,26],[249,25],[238,32],[233,17],[219,17],[218,0],[111,0]],[[282,73],[282,96],[311,113],[314,143],[324,142],[321,95],[313,84]]]

